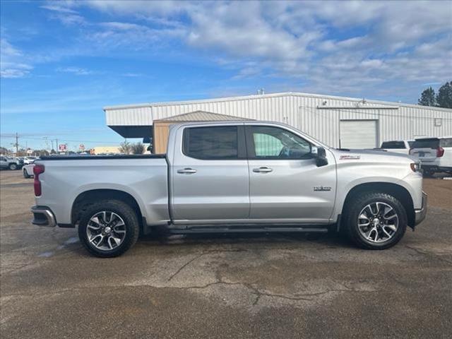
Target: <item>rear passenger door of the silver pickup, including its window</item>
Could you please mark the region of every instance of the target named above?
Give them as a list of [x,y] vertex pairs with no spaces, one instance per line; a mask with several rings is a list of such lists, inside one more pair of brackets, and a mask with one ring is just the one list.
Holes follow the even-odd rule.
[[182,133],[182,149],[174,151],[171,169],[174,223],[225,223],[248,218],[244,126],[186,127]]

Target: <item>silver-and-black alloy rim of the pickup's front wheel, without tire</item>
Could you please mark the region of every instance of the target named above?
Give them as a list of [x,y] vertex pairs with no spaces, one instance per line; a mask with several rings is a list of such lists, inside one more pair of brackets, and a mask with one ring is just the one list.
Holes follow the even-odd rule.
[[396,210],[387,203],[369,203],[359,212],[358,229],[369,242],[387,242],[398,229]]

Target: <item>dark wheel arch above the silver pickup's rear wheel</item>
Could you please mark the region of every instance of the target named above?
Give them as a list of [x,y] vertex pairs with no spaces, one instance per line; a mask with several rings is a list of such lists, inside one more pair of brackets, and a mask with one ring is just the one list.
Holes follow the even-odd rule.
[[143,213],[138,201],[131,194],[119,189],[90,189],[78,194],[71,206],[71,224],[75,226],[88,206],[103,199],[119,200],[129,205],[137,213],[140,229],[143,228]]

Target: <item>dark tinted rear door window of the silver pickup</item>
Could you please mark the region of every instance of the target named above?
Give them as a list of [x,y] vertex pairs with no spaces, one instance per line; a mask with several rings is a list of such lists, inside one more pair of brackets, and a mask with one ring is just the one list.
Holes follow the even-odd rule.
[[237,136],[237,126],[185,129],[184,154],[203,160],[237,159]]

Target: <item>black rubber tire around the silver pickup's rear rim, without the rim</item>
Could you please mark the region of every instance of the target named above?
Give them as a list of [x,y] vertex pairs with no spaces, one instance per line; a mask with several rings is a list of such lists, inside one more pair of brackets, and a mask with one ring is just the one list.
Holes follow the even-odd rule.
[[[116,213],[124,220],[126,234],[124,240],[111,250],[98,249],[94,244],[88,240],[87,227],[90,218],[96,213],[100,213],[104,210]],[[114,256],[120,256],[125,251],[131,248],[136,243],[138,239],[138,234],[140,233],[140,226],[138,223],[138,217],[136,211],[133,210],[129,205],[118,200],[104,200],[94,203],[93,205],[86,208],[81,216],[80,223],[78,224],[78,237],[81,243],[85,246],[90,254],[98,256],[100,258],[112,258]]]

